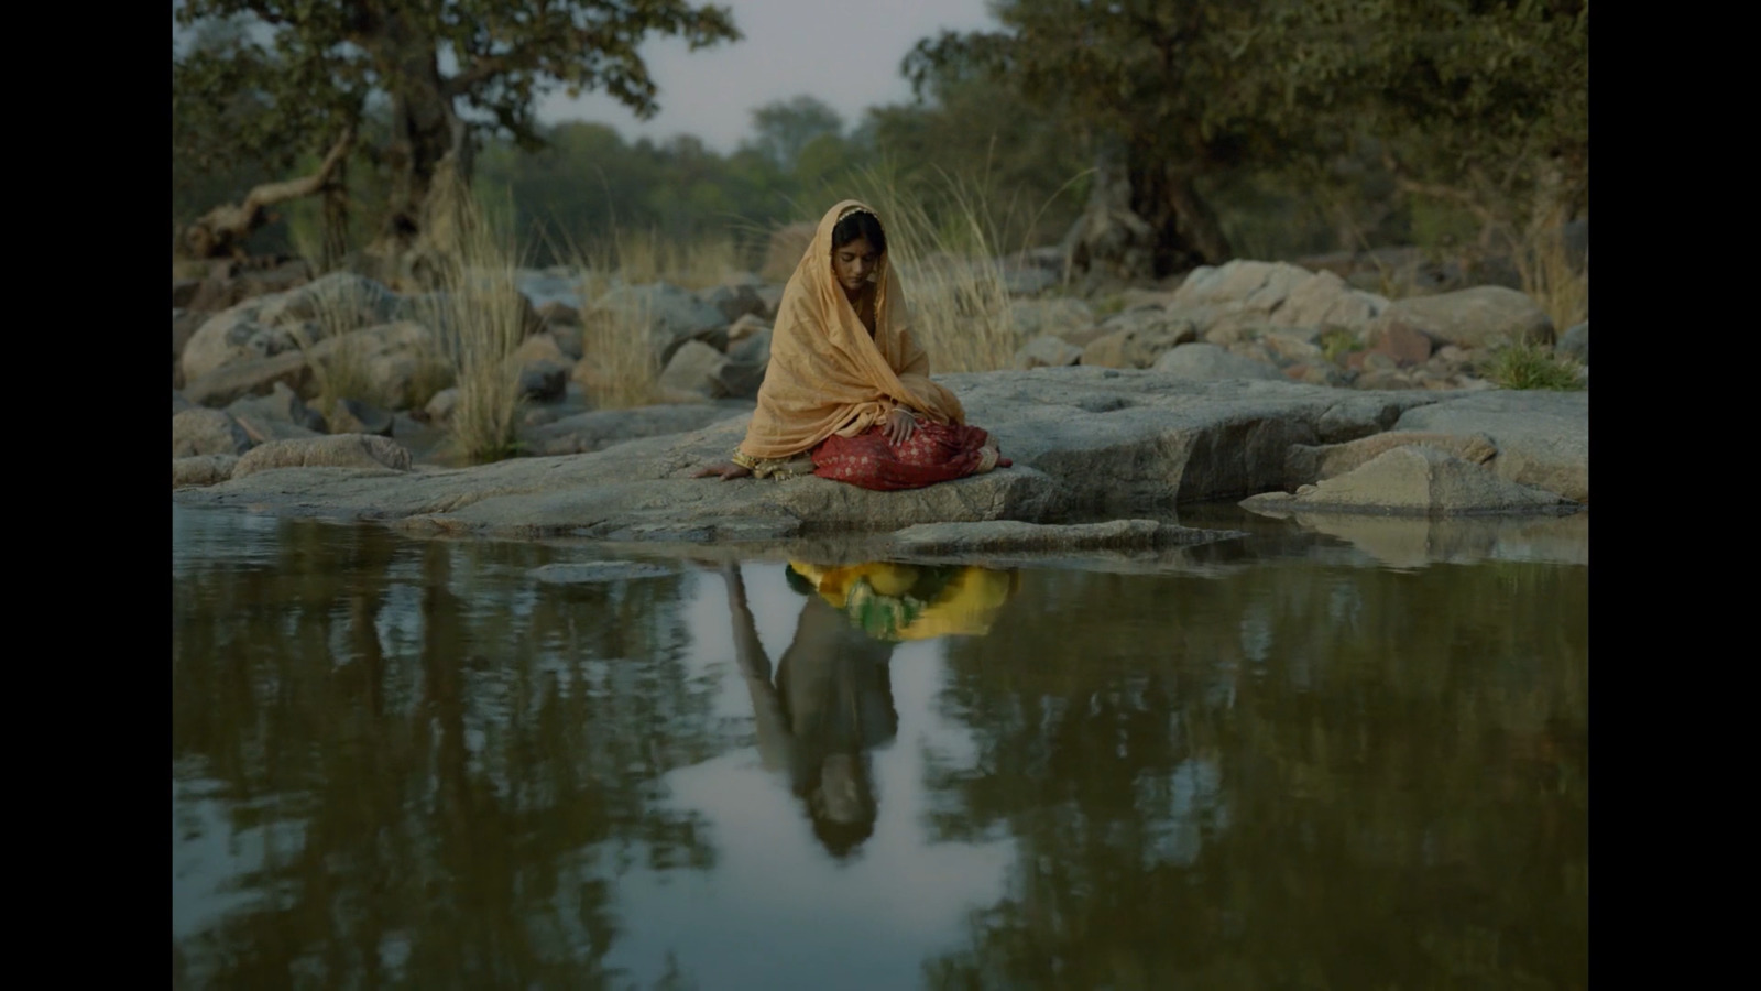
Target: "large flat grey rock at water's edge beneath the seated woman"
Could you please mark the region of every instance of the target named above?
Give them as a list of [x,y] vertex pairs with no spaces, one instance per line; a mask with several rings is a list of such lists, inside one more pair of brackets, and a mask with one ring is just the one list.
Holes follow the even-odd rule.
[[[1374,404],[1374,420],[1382,425],[1395,414],[1485,404],[1495,395],[1367,395],[1278,381],[1189,383],[1150,370],[1087,367],[940,381],[962,397],[972,423],[995,434],[1016,467],[914,492],[868,492],[821,478],[690,478],[696,467],[724,460],[740,443],[748,414],[736,414],[593,453],[396,474],[335,467],[261,471],[210,488],[183,488],[173,497],[387,520],[428,533],[615,541],[778,540],[928,522],[1157,517],[1182,504],[1278,490],[1291,446],[1321,443],[1330,432],[1321,425],[1338,421],[1347,407],[1351,420],[1359,421],[1358,407]],[[1479,414],[1467,421],[1470,430],[1486,430]],[[1587,478],[1587,450],[1583,460]]]

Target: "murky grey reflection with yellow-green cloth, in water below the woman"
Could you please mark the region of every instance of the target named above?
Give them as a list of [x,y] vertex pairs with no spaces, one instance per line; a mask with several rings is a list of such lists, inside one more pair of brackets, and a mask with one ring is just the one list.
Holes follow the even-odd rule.
[[[873,834],[879,815],[868,751],[898,734],[888,663],[898,640],[983,635],[1014,591],[1013,573],[983,568],[791,564],[807,594],[794,640],[777,665],[759,644],[740,568],[722,568],[734,656],[752,693],[759,756],[787,769],[814,834],[836,857]],[[817,592],[817,594],[815,594]]]

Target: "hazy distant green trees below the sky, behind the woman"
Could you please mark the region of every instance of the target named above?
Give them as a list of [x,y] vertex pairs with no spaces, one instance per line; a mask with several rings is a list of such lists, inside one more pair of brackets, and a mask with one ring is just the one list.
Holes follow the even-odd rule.
[[[814,104],[798,97],[770,108]],[[873,108],[852,134],[821,130],[803,141],[789,168],[764,150],[775,134],[729,155],[694,138],[625,143],[597,123],[562,123],[542,138],[546,146],[534,153],[511,141],[490,145],[475,173],[479,194],[509,194],[521,236],[539,245],[539,265],[616,256],[620,240],[639,235],[680,245],[733,236],[738,261],[750,268],[778,224],[817,219],[828,203],[873,187],[921,206],[949,245],[970,231],[969,210],[946,196],[963,187],[988,205],[993,247],[1013,250],[1064,235],[1085,169],[1083,153],[1020,97],[984,83]]]

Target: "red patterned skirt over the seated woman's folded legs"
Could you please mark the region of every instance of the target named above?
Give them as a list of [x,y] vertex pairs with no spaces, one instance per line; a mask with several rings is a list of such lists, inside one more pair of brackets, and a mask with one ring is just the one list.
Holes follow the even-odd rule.
[[814,474],[880,492],[923,488],[1009,464],[984,430],[928,420],[917,420],[903,444],[888,441],[884,427],[870,427],[854,437],[833,434],[814,448]]

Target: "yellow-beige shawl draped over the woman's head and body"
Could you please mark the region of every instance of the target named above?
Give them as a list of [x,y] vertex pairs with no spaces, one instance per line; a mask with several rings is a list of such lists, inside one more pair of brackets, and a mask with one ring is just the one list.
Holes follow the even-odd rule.
[[905,294],[888,257],[875,266],[875,333],[831,272],[831,229],[868,206],[845,199],[826,212],[814,243],[784,287],[771,360],[740,451],[789,458],[826,437],[854,437],[903,406],[937,423],[965,423],[954,393],[930,381],[930,358],[907,330]]

